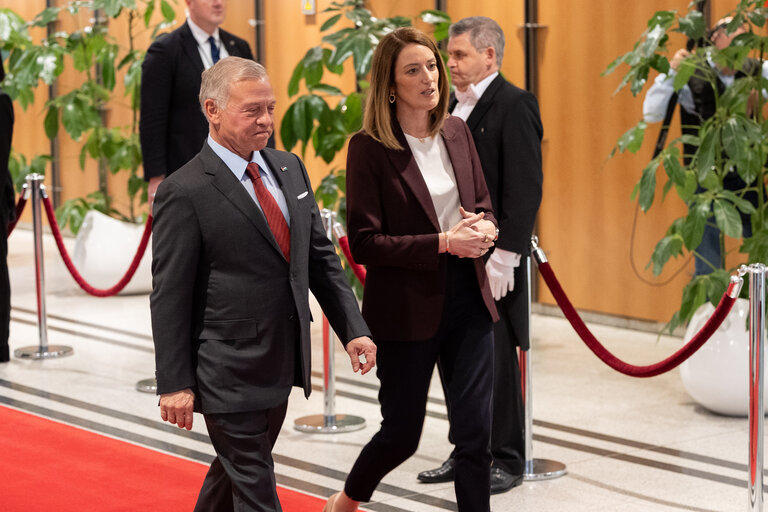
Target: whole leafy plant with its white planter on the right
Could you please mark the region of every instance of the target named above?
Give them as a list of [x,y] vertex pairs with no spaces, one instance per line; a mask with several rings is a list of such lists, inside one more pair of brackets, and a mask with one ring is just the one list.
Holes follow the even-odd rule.
[[[639,207],[647,211],[655,201],[660,178],[663,197],[674,190],[676,199],[687,206],[687,213],[668,226],[648,263],[655,275],[670,259],[689,254],[709,266],[704,269],[708,273],[697,272],[701,275],[695,275],[685,286],[680,309],[667,324],[669,332],[689,324],[686,338],[709,318],[736,270],[726,262],[727,246],[738,248],[743,255],[740,263],[768,262],[768,122],[763,113],[768,82],[762,76],[768,38],[761,35],[767,18],[768,9],[762,0],[742,0],[719,26],[709,31],[699,10],[682,14],[659,11],[648,21],[633,49],[617,58],[605,72],[626,64],[629,70],[618,89],[628,86],[633,95],[638,95],[645,88],[650,70],[655,69],[673,80],[681,98],[687,87],[690,98],[697,101],[695,111],[689,114],[694,117],[687,118],[693,120],[682,122],[685,134],[656,148],[658,153],[642,170],[632,193]],[[670,33],[684,34],[696,43],[688,56],[676,62],[674,73],[670,73],[668,57]],[[724,36],[728,43],[717,41]],[[729,86],[719,78],[726,71],[733,76]],[[704,91],[712,94],[706,102]],[[646,128],[645,121],[630,128],[619,138],[612,155],[637,152]],[[742,218],[747,219],[746,230]],[[719,230],[719,259],[702,257],[699,250],[707,225]],[[728,244],[726,239],[730,239]],[[742,290],[745,293],[746,288]],[[747,312],[744,303],[737,304],[713,339],[681,367],[683,384],[691,396],[722,414],[747,412]]]

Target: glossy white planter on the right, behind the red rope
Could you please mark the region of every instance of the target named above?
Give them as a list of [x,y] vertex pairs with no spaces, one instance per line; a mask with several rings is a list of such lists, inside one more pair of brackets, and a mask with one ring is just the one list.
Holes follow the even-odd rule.
[[[699,307],[685,331],[687,343],[712,316],[710,303]],[[728,416],[749,412],[749,301],[736,299],[733,309],[712,337],[680,365],[683,386],[710,411]],[[763,400],[768,410],[768,394]]]

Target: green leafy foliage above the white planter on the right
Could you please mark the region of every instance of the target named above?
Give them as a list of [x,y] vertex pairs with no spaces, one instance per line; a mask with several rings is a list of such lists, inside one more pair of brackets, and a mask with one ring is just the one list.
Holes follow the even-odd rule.
[[[715,85],[716,72],[712,64],[736,71],[745,71],[732,86],[715,93],[714,114],[701,122],[692,133],[672,138],[642,170],[633,200],[647,211],[656,197],[657,178],[664,180],[663,195],[675,191],[677,199],[688,207],[686,215],[675,219],[664,237],[656,245],[648,266],[659,275],[671,258],[694,254],[699,247],[705,226],[709,223],[720,230],[721,246],[725,237],[735,239],[744,261],[768,261],[768,212],[766,211],[765,182],[768,146],[768,123],[763,115],[764,96],[753,91],[766,90],[766,81],[760,73],[746,68],[758,62],[761,68],[768,50],[768,39],[759,35],[768,18],[768,9],[762,1],[744,0],[730,13],[730,22],[721,29],[731,34],[745,27],[726,48],[706,44],[707,28],[704,15],[698,10],[684,14],[659,11],[648,21],[647,28],[633,49],[618,57],[604,74],[626,64],[618,89],[629,87],[633,95],[644,90],[651,69],[659,73],[670,72],[670,33],[682,33],[690,40],[700,41],[689,57],[682,61],[674,75],[677,91],[696,75]],[[715,89],[717,89],[715,87]],[[750,100],[750,97],[752,99]],[[750,109],[747,104],[754,106]],[[611,156],[616,152],[636,153],[643,144],[647,123],[639,121],[618,140]],[[684,159],[683,146],[691,148],[690,160]],[[740,189],[728,189],[723,180],[736,172],[744,181]],[[756,205],[745,199],[756,194]],[[750,216],[751,234],[743,236],[741,215]],[[724,253],[723,253],[724,254]],[[667,328],[670,332],[685,325],[696,309],[706,302],[717,304],[725,291],[734,268],[726,267],[725,258],[710,262],[714,268],[706,275],[695,276],[684,288],[680,309],[674,313]]]

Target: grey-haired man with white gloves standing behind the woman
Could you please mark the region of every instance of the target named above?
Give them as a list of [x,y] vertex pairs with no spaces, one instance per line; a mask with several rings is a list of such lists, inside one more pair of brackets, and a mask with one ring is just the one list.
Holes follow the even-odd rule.
[[[490,18],[464,18],[450,27],[448,67],[456,86],[453,115],[467,122],[499,223],[499,239],[486,263],[500,320],[494,325],[491,493],[523,480],[524,405],[516,348],[527,350],[528,254],[541,203],[539,106],[533,94],[499,74],[504,33]],[[440,468],[419,473],[423,482],[453,480],[450,457]]]

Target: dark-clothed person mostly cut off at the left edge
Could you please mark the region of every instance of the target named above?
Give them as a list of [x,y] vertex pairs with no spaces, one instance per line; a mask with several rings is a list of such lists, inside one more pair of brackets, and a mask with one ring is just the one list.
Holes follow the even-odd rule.
[[[0,82],[5,78],[0,59]],[[8,223],[16,216],[13,180],[8,171],[13,136],[13,104],[0,89],[0,363],[10,360],[11,282],[8,277]]]

